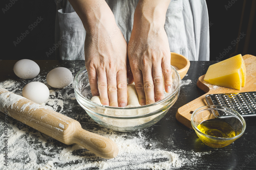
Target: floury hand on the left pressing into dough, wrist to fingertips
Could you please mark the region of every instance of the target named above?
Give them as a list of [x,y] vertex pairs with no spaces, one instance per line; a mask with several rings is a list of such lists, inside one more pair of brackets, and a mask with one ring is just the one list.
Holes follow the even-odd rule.
[[87,31],[84,43],[92,95],[100,96],[103,105],[127,106],[127,43],[113,13],[104,14],[96,22]]

